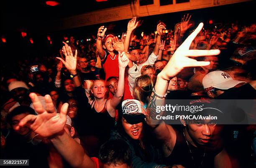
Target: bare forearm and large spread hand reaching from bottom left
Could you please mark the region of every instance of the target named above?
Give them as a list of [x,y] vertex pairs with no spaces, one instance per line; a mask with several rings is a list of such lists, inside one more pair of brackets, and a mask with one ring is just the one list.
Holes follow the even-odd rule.
[[24,117],[18,127],[27,126],[40,136],[48,137],[57,151],[72,167],[94,167],[94,162],[84,153],[82,146],[64,131],[69,104],[63,104],[60,114],[57,115],[50,95],[44,96],[46,109],[35,93],[31,93],[29,96],[38,115]]

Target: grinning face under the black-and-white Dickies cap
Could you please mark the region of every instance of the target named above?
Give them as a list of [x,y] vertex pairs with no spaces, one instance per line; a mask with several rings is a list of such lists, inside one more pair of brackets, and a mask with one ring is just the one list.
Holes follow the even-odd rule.
[[123,117],[122,117],[122,125],[125,132],[131,138],[138,140],[141,139],[142,130],[143,130],[143,123],[138,124],[129,124]]

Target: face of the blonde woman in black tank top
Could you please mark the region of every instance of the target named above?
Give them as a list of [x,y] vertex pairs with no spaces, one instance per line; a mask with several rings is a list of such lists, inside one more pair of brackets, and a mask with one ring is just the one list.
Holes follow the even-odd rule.
[[95,98],[97,99],[102,99],[105,97],[105,93],[107,91],[105,82],[102,80],[96,80],[93,83],[92,86],[92,94],[94,95]]

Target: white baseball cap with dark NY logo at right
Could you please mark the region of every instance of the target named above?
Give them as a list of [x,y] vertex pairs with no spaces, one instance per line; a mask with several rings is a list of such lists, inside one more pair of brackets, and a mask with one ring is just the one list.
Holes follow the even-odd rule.
[[246,82],[233,80],[232,77],[230,77],[230,75],[224,71],[212,71],[205,75],[202,80],[202,85],[204,86],[204,89],[209,87],[215,87],[218,89],[226,90],[240,83]]

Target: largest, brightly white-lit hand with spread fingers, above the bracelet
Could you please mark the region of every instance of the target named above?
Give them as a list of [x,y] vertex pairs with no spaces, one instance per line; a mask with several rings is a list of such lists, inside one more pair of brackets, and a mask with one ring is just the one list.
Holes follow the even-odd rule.
[[189,46],[192,41],[195,39],[197,34],[202,30],[203,23],[200,23],[196,30],[192,32],[189,37],[177,48],[174,52],[172,58],[169,60],[168,64],[164,67],[164,69],[160,72],[161,76],[169,80],[175,76],[184,68],[184,67],[202,67],[207,66],[210,62],[197,61],[195,59],[189,57],[201,57],[201,56],[210,56],[210,55],[218,55],[220,54],[219,49],[212,50],[189,50]]

